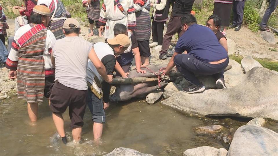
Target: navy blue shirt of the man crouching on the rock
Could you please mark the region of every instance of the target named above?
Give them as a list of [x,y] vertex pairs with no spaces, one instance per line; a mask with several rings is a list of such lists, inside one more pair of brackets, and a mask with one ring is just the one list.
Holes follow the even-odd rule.
[[175,52],[193,55],[202,62],[214,62],[228,57],[225,48],[208,27],[193,24],[179,38]]

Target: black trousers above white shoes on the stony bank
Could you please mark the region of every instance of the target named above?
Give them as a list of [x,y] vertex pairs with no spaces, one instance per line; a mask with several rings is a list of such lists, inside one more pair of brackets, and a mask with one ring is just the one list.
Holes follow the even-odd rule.
[[151,24],[153,42],[158,42],[158,45],[162,45],[164,23],[165,22],[156,22],[153,20],[153,23]]

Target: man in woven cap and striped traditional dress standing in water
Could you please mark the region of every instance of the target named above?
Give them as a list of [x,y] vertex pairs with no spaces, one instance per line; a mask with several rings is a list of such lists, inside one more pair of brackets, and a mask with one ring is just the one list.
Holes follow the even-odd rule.
[[17,78],[18,99],[27,101],[28,115],[37,120],[38,103],[43,96],[49,98],[54,83],[54,66],[51,63],[51,44],[54,34],[46,28],[51,11],[43,5],[33,8],[33,23],[20,27],[14,35],[12,49],[6,62],[9,78]]

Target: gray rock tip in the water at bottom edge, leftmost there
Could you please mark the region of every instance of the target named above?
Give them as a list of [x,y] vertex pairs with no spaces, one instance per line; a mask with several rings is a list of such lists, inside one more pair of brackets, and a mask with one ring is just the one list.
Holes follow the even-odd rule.
[[152,156],[150,154],[140,153],[134,149],[119,147],[104,156]]

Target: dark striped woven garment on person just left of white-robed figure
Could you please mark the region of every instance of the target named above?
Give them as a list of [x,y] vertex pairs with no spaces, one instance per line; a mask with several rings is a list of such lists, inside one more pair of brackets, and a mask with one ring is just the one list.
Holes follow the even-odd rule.
[[[87,3],[87,0],[82,1],[82,3],[84,2]],[[99,15],[100,15],[100,1],[92,0],[87,10],[87,17],[93,21],[98,21]]]

